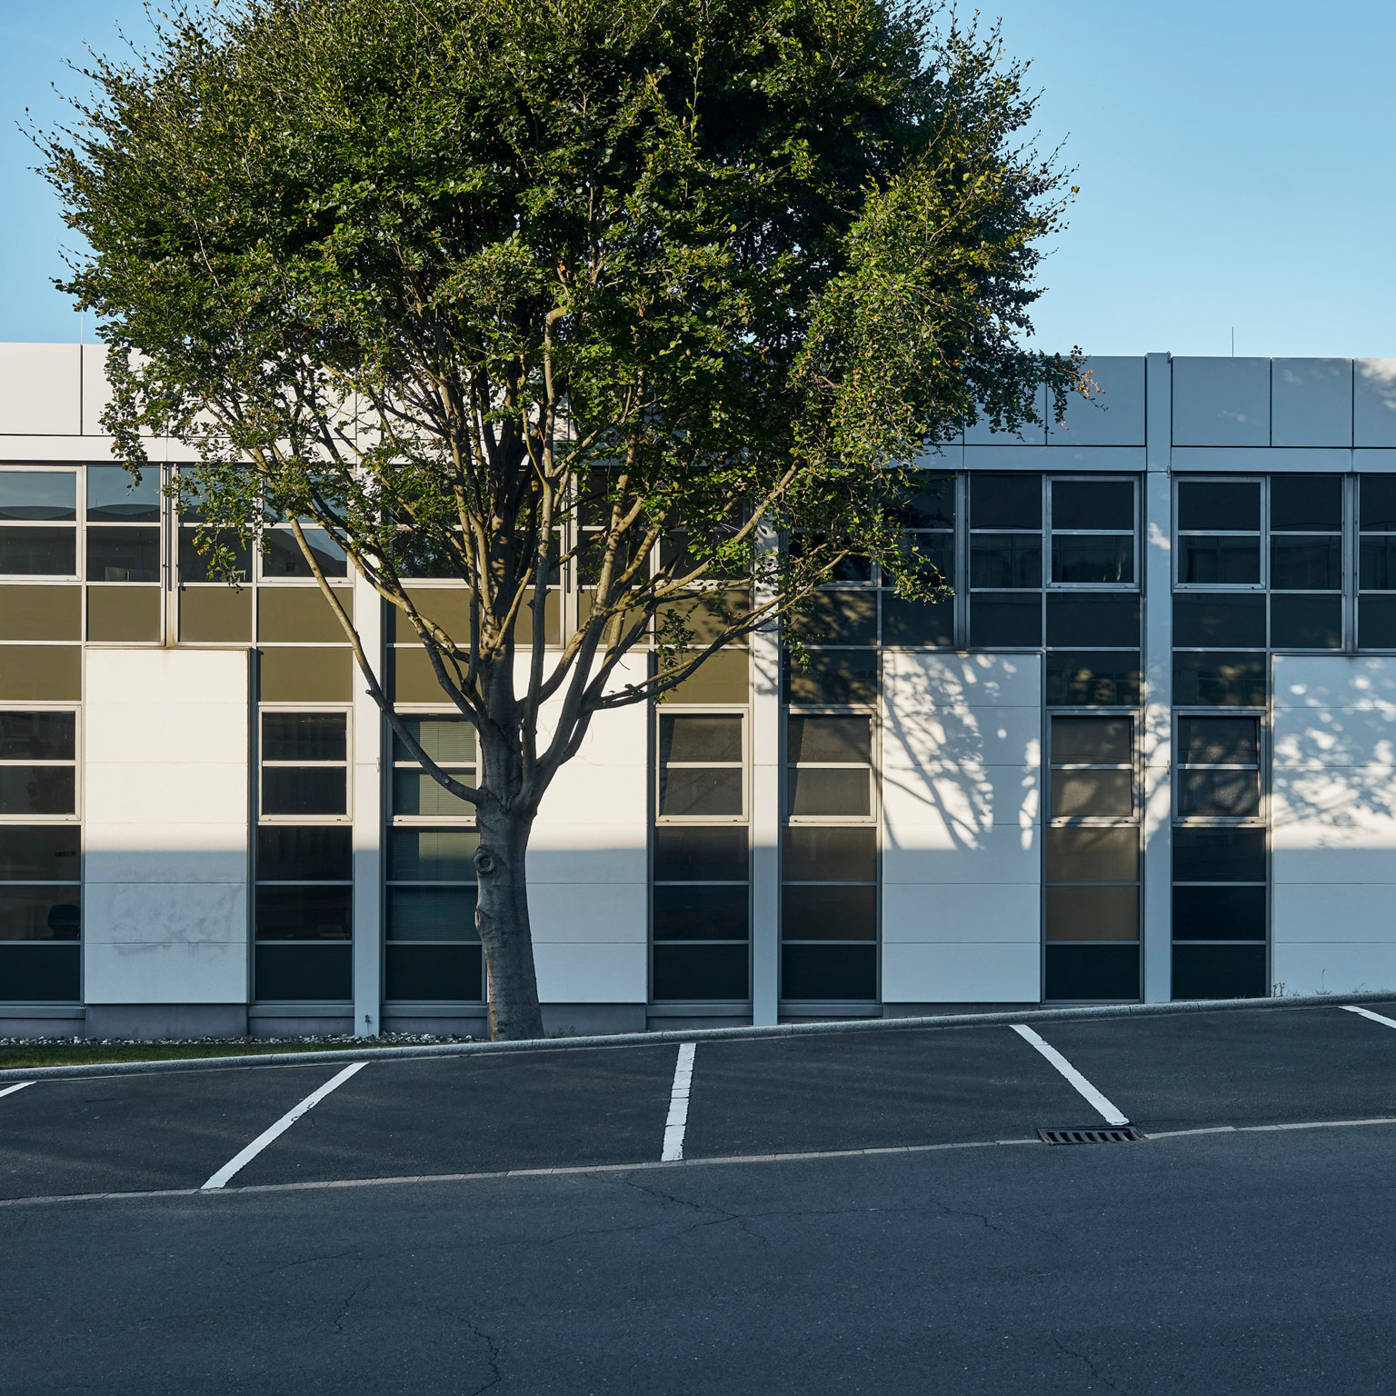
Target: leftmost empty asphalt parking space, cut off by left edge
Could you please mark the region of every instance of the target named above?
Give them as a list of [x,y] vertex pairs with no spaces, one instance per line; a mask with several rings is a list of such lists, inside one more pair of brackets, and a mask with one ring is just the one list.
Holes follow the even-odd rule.
[[335,1069],[39,1079],[0,1100],[0,1196],[197,1188]]

